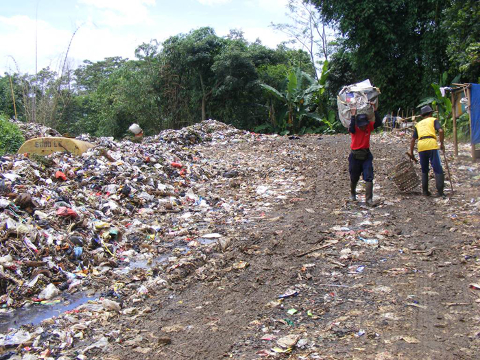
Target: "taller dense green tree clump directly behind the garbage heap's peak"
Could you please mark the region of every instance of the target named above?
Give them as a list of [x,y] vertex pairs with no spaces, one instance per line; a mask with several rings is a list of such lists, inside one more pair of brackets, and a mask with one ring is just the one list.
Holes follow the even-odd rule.
[[[253,128],[265,121],[268,114],[258,86],[259,76],[268,73],[266,67],[284,64],[286,73],[291,64],[300,63],[302,69],[312,74],[314,71],[304,51],[268,49],[259,40],[248,43],[239,31],[219,38],[211,28],[172,36],[163,43],[158,56],[162,64],[162,92],[172,94],[169,104],[177,104],[177,110],[167,105],[169,111],[163,114],[175,123],[180,119],[196,122],[200,112],[202,119],[212,117],[241,128]],[[279,85],[285,73],[282,80],[278,76],[278,83],[271,85]]]

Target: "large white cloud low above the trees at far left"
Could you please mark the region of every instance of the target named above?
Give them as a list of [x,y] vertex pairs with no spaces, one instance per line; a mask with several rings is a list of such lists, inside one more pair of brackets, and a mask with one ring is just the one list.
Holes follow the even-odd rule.
[[[35,19],[28,16],[0,16],[0,74],[17,71],[17,65],[21,73],[35,73],[35,28]],[[95,62],[109,56],[133,58],[135,48],[149,41],[134,34],[119,36],[116,30],[96,27],[91,22],[80,25],[75,36],[74,31],[37,22],[38,71],[45,67],[60,71],[70,40],[68,62],[73,67],[87,59]]]

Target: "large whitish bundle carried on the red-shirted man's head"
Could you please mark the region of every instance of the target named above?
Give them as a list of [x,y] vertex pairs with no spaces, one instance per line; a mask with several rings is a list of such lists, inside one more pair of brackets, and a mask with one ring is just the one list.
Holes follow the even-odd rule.
[[342,125],[350,126],[351,108],[357,108],[357,115],[366,114],[370,121],[375,121],[372,103],[379,104],[380,89],[364,80],[357,84],[344,86],[337,96],[338,116]]

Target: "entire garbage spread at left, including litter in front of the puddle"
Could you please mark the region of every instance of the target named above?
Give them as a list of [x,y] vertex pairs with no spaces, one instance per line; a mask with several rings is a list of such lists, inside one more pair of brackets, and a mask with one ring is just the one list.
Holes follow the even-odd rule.
[[[296,171],[270,154],[275,136],[218,121],[166,130],[141,144],[77,139],[95,147],[82,156],[0,158],[0,333],[5,334],[0,344],[27,346],[43,358],[57,359],[109,314],[149,313],[142,302],[158,289],[190,274],[200,280],[215,276],[211,256],[230,246],[238,226],[265,217],[265,209],[304,186],[301,176],[292,174]],[[222,154],[202,155],[206,141],[262,143],[268,151],[261,152],[261,165],[245,156],[232,169]],[[267,172],[276,179],[274,187],[265,182]],[[252,203],[221,195],[223,187]],[[238,226],[225,226],[232,221]],[[239,260],[232,271],[247,266]],[[30,307],[69,304],[73,294],[82,299],[80,307],[75,302],[74,313],[69,307],[40,328],[25,331],[16,324],[8,331],[10,326],[1,324],[3,316]],[[99,339],[98,347],[105,341]]]

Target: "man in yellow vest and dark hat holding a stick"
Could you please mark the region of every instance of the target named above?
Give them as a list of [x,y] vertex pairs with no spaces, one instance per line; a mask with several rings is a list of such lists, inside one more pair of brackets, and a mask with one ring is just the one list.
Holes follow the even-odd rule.
[[420,157],[420,165],[422,166],[422,193],[429,196],[429,164],[433,167],[435,173],[435,185],[438,195],[444,195],[445,174],[440,162],[440,154],[438,153],[437,134],[440,137],[440,149],[445,151],[444,146],[444,130],[440,125],[440,121],[432,117],[433,110],[430,106],[424,106],[420,110],[422,120],[415,126],[413,137],[410,142],[410,157],[413,158],[413,148],[415,141],[418,140],[418,156]]

